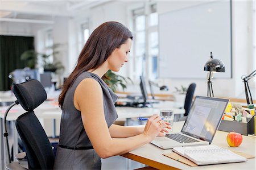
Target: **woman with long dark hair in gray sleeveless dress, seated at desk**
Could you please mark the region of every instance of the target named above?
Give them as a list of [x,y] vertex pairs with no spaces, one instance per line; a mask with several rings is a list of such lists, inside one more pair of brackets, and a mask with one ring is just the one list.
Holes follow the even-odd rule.
[[100,169],[101,157],[125,154],[170,128],[158,115],[144,128],[113,124],[117,96],[101,77],[128,61],[132,39],[118,22],[103,23],[90,35],[59,96],[63,113],[55,169]]

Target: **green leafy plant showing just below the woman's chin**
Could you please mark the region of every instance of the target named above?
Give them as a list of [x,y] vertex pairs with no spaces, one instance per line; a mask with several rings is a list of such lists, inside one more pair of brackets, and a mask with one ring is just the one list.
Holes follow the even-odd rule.
[[[110,89],[113,90],[113,92],[115,92],[118,88],[118,85],[121,85],[122,89],[125,90],[127,88],[126,84],[127,84],[127,80],[131,79],[129,77],[125,78],[123,76],[119,76],[117,74],[115,74],[114,72],[112,72],[111,70],[109,70],[108,72],[105,73],[103,80],[106,82],[106,84],[109,86]],[[131,83],[133,84],[133,81],[131,81]]]

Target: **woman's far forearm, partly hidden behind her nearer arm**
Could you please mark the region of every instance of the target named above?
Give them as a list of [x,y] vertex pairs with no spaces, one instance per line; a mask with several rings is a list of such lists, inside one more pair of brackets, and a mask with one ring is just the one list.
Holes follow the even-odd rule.
[[142,134],[143,130],[144,127],[126,127],[114,124],[109,127],[110,136],[112,138],[128,138]]

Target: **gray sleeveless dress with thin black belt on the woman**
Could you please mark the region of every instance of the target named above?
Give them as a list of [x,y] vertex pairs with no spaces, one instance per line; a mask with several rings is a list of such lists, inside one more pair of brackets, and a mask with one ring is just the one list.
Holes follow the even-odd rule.
[[[97,75],[90,72],[81,73],[74,81],[71,88],[66,93],[63,112],[60,122],[60,141],[59,144],[68,147],[91,147],[92,144],[82,125],[81,112],[73,104],[73,96],[77,85],[85,78],[94,78],[101,85],[104,101],[104,114],[106,123],[110,127],[115,119],[117,112],[114,103],[117,96]],[[93,149],[71,150],[58,147],[53,169],[101,169],[100,156]]]

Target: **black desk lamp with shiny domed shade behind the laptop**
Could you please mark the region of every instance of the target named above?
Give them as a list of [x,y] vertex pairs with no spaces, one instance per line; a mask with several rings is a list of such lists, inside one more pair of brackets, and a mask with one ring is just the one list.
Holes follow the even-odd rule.
[[225,72],[225,65],[221,60],[213,59],[212,52],[210,52],[210,59],[204,65],[204,71],[209,72],[209,77],[207,78],[207,96],[214,97],[213,90],[212,90],[212,75],[213,72]]

